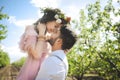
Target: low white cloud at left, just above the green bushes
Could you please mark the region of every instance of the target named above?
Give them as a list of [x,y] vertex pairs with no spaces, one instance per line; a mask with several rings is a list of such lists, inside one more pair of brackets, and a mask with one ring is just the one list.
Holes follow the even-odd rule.
[[2,48],[5,52],[8,53],[11,63],[27,55],[26,53],[22,53],[18,46],[6,47],[2,45]]

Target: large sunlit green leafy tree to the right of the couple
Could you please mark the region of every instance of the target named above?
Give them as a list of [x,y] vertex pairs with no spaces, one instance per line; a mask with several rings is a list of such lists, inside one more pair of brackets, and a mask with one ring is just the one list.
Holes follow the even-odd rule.
[[70,76],[80,80],[94,72],[108,80],[120,78],[120,22],[112,18],[120,19],[119,13],[112,0],[104,7],[99,0],[89,4],[86,14],[80,11],[80,20],[74,21],[79,40],[68,54]]

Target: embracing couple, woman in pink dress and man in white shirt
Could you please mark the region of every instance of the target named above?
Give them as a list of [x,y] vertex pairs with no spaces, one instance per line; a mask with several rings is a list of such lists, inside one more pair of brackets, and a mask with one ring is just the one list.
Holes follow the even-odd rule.
[[42,9],[43,16],[26,27],[20,49],[28,54],[17,80],[65,80],[66,54],[77,37],[69,30],[70,18],[59,9]]

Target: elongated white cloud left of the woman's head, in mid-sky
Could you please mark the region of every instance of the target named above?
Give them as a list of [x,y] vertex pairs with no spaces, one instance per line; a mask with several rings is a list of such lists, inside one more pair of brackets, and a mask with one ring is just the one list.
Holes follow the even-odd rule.
[[36,20],[34,19],[16,20],[15,16],[10,16],[8,21],[12,24],[15,24],[18,27],[25,27],[26,25],[33,24]]

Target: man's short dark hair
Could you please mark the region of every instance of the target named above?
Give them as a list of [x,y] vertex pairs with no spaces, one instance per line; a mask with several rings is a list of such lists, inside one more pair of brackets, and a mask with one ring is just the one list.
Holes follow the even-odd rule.
[[63,50],[71,49],[72,46],[77,41],[77,36],[75,35],[75,33],[69,30],[66,26],[61,26],[60,33],[61,33],[60,37],[63,41],[62,49]]

